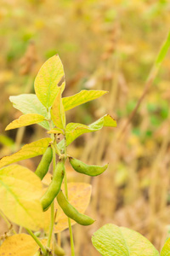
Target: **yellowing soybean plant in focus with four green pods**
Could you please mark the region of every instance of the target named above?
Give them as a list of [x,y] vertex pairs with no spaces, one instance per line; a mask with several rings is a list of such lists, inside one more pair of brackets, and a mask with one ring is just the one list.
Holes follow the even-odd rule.
[[[110,114],[105,114],[91,125],[66,124],[65,113],[67,111],[104,96],[107,91],[81,90],[76,95],[63,97],[65,73],[59,55],[54,55],[42,65],[35,79],[34,88],[36,94],[9,97],[14,108],[19,109],[23,115],[11,122],[6,130],[37,124],[47,131],[48,137],[39,138],[36,142],[26,144],[18,152],[0,160],[0,190],[2,191],[0,210],[2,216],[8,225],[14,223],[20,225],[20,230],[22,227],[26,228],[29,235],[16,235],[16,231],[13,229],[13,234],[10,234],[13,236],[3,241],[0,255],[7,253],[7,248],[11,247],[12,243],[16,244],[15,248],[11,247],[12,255],[18,252],[20,247],[25,256],[64,255],[63,248],[56,242],[56,234],[69,228],[71,256],[74,256],[71,225],[75,223],[94,224],[94,219],[84,214],[90,199],[91,185],[68,183],[65,161],[69,159],[75,171],[89,176],[97,176],[105,172],[108,164],[88,166],[81,160],[68,155],[67,147],[84,133],[99,131],[104,126],[116,127],[116,120]],[[59,134],[63,136],[63,140],[58,143],[57,136]],[[42,160],[37,166],[36,172],[21,165],[14,165],[17,161],[37,155],[42,155]],[[53,162],[52,168],[50,168],[51,161]],[[48,172],[50,169],[52,176],[50,182],[47,182],[50,179]],[[83,190],[83,187],[86,189]],[[83,192],[81,200],[79,196],[72,200],[73,192],[74,196],[75,193],[79,195],[80,192]],[[65,218],[68,218],[66,225],[63,224]],[[36,233],[33,233],[35,231]],[[28,242],[29,250],[26,249]]]

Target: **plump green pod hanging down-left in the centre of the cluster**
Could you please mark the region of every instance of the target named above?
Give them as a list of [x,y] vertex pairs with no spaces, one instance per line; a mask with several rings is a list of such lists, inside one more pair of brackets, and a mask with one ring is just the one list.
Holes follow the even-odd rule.
[[57,166],[55,166],[54,169],[53,179],[40,200],[42,203],[43,211],[48,210],[48,207],[50,207],[51,203],[54,201],[54,198],[58,195],[64,176],[65,165],[61,160],[59,160]]

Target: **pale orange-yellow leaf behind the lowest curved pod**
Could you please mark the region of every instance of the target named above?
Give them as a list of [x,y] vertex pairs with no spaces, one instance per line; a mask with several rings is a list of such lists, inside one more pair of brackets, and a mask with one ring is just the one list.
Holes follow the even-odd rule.
[[[62,189],[65,191],[64,185]],[[69,201],[73,207],[77,208],[78,212],[84,213],[88,207],[90,197],[92,192],[92,186],[88,183],[68,183],[68,195]],[[67,229],[68,226],[68,217],[61,210],[58,205],[57,200],[54,201],[54,207],[57,210],[57,217],[55,219],[54,232],[59,233],[62,230]],[[50,223],[50,209],[45,214],[45,221]],[[48,226],[46,224],[46,226]],[[77,224],[74,220],[71,219],[71,225]],[[48,231],[48,230],[47,230]]]

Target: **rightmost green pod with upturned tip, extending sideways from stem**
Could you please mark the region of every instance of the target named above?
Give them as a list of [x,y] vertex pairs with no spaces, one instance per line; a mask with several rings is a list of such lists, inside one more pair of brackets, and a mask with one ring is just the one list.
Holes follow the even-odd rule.
[[77,160],[73,157],[69,157],[71,166],[77,172],[89,175],[89,176],[98,176],[99,174],[105,172],[108,167],[108,164],[105,166],[88,166],[83,163],[81,160]]

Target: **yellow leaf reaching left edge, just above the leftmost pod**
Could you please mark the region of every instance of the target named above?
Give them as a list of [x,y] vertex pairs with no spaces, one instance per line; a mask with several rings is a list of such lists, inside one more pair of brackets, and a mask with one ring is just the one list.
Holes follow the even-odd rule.
[[4,156],[0,160],[0,168],[2,168],[3,166],[8,166],[14,162],[18,162],[20,160],[25,160],[40,154],[44,154],[44,152],[48,148],[48,144],[50,143],[50,141],[51,138],[46,137],[36,142],[26,144],[18,152],[8,156]]

